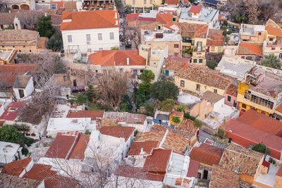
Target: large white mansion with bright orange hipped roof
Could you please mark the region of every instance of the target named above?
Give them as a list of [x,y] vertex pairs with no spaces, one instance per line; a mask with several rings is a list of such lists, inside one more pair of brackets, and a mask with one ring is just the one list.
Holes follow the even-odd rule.
[[118,29],[118,11],[63,13],[63,49],[73,53],[92,53],[119,47]]

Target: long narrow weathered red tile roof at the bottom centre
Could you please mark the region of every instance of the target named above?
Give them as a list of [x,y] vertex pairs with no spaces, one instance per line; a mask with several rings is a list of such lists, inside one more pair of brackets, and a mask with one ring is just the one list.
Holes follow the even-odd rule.
[[141,180],[151,180],[157,182],[164,181],[164,175],[148,173],[140,168],[133,168],[128,166],[118,166],[118,170],[116,170],[115,175],[122,176],[122,177],[130,177],[130,178],[137,178]]

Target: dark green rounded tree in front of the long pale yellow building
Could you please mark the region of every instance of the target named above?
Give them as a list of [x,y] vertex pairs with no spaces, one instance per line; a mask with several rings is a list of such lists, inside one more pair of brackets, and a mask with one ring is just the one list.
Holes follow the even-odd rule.
[[154,82],[151,87],[151,96],[154,99],[164,101],[166,99],[176,99],[179,94],[178,87],[173,82]]

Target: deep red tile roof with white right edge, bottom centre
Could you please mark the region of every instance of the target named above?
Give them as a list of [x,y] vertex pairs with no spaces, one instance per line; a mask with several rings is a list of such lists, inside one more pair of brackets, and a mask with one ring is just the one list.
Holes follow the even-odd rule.
[[147,156],[143,170],[149,173],[166,173],[172,149],[154,149],[151,156]]

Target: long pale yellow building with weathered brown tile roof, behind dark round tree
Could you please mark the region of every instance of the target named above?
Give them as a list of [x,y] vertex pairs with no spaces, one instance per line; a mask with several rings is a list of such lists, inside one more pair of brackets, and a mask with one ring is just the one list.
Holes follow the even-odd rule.
[[233,78],[206,67],[190,65],[182,68],[175,74],[175,84],[182,90],[188,90],[196,94],[210,91],[216,94],[226,92]]

